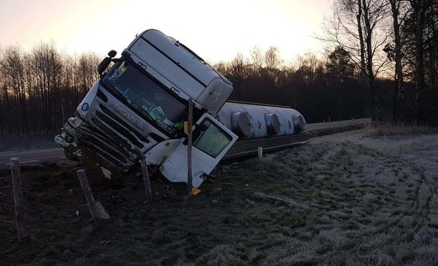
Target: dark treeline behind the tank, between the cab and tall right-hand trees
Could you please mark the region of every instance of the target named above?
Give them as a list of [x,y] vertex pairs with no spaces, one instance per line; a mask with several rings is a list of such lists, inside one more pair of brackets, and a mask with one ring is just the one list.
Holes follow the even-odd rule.
[[231,62],[214,65],[233,83],[231,100],[291,106],[307,122],[368,117],[370,93],[358,79],[348,55],[337,49],[327,58],[315,53],[298,56],[288,65],[280,51],[255,47],[249,56],[239,53]]

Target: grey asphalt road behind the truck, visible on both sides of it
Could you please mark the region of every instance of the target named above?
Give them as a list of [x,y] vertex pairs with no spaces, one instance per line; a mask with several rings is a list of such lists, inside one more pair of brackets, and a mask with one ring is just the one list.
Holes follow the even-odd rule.
[[[343,121],[333,121],[326,123],[315,123],[315,124],[307,124],[307,129],[319,129],[323,127],[335,127],[341,125],[349,125],[355,123],[366,123],[369,122],[370,119],[357,119],[357,120],[343,120]],[[348,132],[338,133],[339,136],[349,135]],[[328,140],[328,138],[336,138],[338,134],[333,134],[329,136],[317,137],[311,139],[311,142],[317,143],[324,140]],[[10,159],[11,158],[19,158],[20,164],[38,164],[41,162],[59,162],[62,160],[66,160],[64,156],[64,150],[62,148],[47,148],[47,149],[36,149],[36,150],[23,150],[23,151],[10,151],[0,153],[0,169],[10,167]]]

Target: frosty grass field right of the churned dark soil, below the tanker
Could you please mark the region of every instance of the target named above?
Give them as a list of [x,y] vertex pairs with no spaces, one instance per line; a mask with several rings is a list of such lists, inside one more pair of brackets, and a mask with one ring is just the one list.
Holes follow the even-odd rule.
[[[155,221],[151,242],[89,261],[436,265],[437,179],[438,135],[302,145],[217,167],[201,187],[206,198],[161,208],[167,223]],[[254,192],[296,204],[267,202]]]

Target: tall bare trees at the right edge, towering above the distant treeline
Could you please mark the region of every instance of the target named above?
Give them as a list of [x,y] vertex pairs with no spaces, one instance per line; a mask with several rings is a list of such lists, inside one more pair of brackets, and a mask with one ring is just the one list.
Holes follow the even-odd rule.
[[[388,116],[380,77],[395,80],[393,121],[437,123],[438,0],[334,0],[318,36],[344,51],[372,96],[372,117]],[[413,91],[410,85],[413,84]]]

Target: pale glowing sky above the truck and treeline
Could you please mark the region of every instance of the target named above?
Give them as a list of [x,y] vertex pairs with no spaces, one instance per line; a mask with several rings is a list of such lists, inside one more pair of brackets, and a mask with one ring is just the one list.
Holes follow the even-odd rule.
[[53,41],[59,51],[120,54],[137,33],[158,29],[212,63],[277,46],[285,61],[320,51],[330,0],[1,0],[0,48]]

